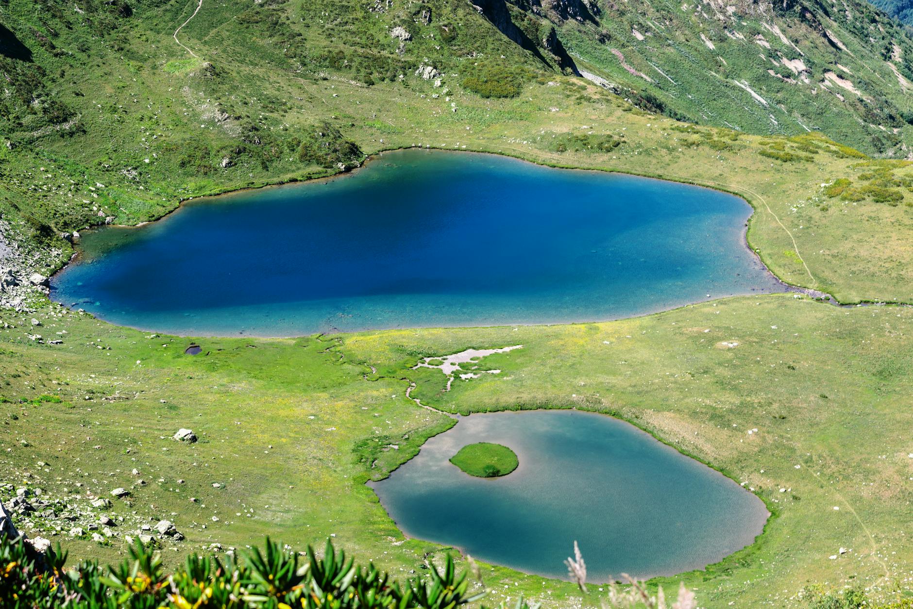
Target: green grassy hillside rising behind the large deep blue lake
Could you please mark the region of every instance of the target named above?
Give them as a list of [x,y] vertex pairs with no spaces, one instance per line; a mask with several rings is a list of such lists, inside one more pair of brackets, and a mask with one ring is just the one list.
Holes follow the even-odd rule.
[[[869,161],[815,134],[755,137],[658,117],[549,71],[471,7],[438,7],[425,26],[345,3],[204,4],[179,45],[174,29],[195,5],[79,6],[2,8],[30,53],[2,57],[26,84],[4,98],[0,146],[0,231],[26,276],[65,261],[65,237],[83,226],[143,222],[184,198],[422,145],[735,191],[760,212],[750,242],[786,281],[846,302],[913,299],[906,161]],[[412,38],[391,36],[394,24]],[[377,43],[373,55],[356,52],[358,39]],[[422,66],[438,76],[416,76]],[[503,93],[492,83],[517,95],[483,97]]]

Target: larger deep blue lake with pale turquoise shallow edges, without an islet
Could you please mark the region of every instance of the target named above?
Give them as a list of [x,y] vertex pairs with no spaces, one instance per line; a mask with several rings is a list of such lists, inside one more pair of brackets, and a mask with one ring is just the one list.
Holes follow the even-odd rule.
[[719,191],[459,152],[86,232],[58,302],[181,335],[606,320],[780,290]]

